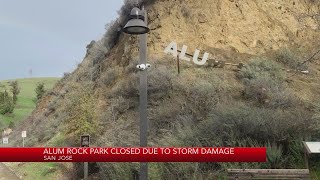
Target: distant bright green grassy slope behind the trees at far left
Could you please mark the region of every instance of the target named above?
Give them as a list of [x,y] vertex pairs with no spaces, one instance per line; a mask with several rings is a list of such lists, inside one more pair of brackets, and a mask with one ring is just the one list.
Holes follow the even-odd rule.
[[[38,83],[43,82],[45,84],[45,89],[48,90],[54,86],[59,78],[26,78],[16,80],[18,81],[18,85],[20,87],[20,93],[18,95],[16,107],[12,114],[0,115],[0,123],[4,124],[5,127],[8,126],[10,122],[17,123],[27,118],[35,109],[35,88]],[[0,81],[1,85],[4,85],[4,87],[0,87],[0,91],[7,90],[7,92],[10,93],[10,81],[14,80]]]

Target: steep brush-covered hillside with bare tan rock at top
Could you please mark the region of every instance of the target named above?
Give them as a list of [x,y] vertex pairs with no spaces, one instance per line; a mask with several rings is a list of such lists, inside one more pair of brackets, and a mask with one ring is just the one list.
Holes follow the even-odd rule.
[[[144,0],[148,12],[150,146],[268,146],[264,164],[151,164],[152,179],[218,176],[227,167],[299,168],[301,140],[320,138],[320,2],[315,0]],[[141,4],[140,3],[140,4]],[[138,41],[119,31],[126,1],[104,37],[87,46],[78,68],[48,92],[12,134],[29,146],[139,145]],[[244,63],[214,68],[165,55],[172,41]],[[290,70],[290,72],[287,72]],[[295,71],[297,73],[295,73]],[[308,70],[308,74],[300,71]],[[248,128],[250,127],[250,128]],[[14,144],[19,143],[19,138]],[[77,164],[74,165],[77,170]],[[136,163],[91,164],[91,176],[132,177]],[[95,167],[95,168],[94,168]],[[198,179],[199,179],[198,178]],[[197,179],[197,178],[196,178]]]

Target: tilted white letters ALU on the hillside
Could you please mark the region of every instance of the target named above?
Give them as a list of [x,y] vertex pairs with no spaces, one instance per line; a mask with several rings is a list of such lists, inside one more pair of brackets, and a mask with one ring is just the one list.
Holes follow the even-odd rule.
[[[186,57],[188,47],[186,45],[182,46],[181,53],[179,55],[179,58],[185,61],[190,61],[190,58]],[[168,47],[164,50],[166,54],[172,54],[174,57],[178,56],[178,45],[176,42],[171,42]],[[194,54],[193,54],[193,62],[197,65],[204,65],[208,58],[209,58],[209,53],[205,52],[203,55],[202,60],[199,60],[199,55],[200,55],[200,50],[196,49]]]

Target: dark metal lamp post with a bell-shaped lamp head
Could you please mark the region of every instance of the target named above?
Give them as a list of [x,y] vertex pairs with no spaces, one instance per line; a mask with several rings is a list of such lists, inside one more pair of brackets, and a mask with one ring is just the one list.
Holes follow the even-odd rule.
[[[147,12],[139,8],[133,8],[130,19],[123,31],[127,34],[139,35],[140,64],[147,62]],[[147,117],[147,71],[140,71],[140,147],[147,147],[148,117]],[[140,180],[148,179],[148,164],[140,163]]]

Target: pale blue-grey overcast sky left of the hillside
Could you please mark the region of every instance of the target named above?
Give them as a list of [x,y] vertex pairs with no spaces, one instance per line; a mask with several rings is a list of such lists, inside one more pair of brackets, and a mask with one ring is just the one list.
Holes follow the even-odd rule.
[[123,0],[0,0],[0,80],[61,77],[116,19]]

